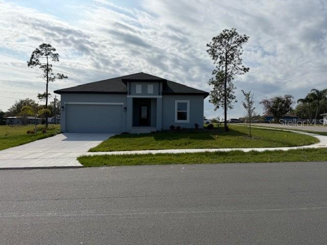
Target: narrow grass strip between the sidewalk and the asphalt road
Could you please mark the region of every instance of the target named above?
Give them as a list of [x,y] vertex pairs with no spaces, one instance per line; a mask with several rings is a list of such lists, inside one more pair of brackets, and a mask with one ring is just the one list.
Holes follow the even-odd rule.
[[79,162],[85,167],[130,166],[195,163],[247,163],[247,162],[297,162],[327,161],[327,149],[306,149],[265,152],[215,152],[147,155],[101,155],[81,156]]

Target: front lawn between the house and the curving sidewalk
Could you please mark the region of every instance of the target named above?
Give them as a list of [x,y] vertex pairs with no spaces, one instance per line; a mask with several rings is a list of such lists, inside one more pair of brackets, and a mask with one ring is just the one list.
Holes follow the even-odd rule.
[[193,148],[260,148],[299,146],[317,143],[318,139],[308,135],[269,129],[252,129],[258,139],[248,139],[248,128],[229,126],[229,132],[222,127],[215,130],[160,131],[150,134],[120,134],[113,136],[90,152],[193,149]]

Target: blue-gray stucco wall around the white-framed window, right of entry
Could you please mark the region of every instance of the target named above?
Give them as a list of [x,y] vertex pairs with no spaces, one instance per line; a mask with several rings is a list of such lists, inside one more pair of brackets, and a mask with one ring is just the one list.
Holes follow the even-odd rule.
[[[175,122],[175,101],[190,101],[190,121]],[[169,126],[180,126],[181,128],[203,128],[203,95],[163,95],[162,96],[162,128],[169,129]]]

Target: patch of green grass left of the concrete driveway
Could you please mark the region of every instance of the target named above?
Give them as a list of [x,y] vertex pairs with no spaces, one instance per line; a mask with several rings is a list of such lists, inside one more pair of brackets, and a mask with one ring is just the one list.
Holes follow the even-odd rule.
[[49,125],[46,133],[41,131],[43,126],[38,126],[37,134],[27,134],[28,130],[34,130],[33,125],[29,126],[0,126],[0,150],[13,146],[26,144],[38,139],[47,138],[60,133],[60,125]]

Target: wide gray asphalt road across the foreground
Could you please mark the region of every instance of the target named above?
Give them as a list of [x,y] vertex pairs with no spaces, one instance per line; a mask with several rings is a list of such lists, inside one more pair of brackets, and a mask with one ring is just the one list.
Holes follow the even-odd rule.
[[327,244],[327,163],[0,171],[0,244]]

